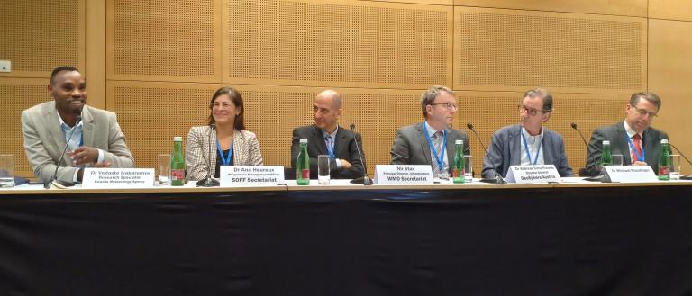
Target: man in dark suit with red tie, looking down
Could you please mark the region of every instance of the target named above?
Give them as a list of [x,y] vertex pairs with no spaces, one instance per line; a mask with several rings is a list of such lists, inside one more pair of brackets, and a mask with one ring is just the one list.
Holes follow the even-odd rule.
[[594,130],[588,143],[587,174],[600,173],[603,140],[610,141],[612,154],[623,155],[624,166],[651,166],[659,169],[660,140],[668,139],[662,130],[651,128],[660,111],[660,97],[653,93],[635,93],[625,107],[624,121]]

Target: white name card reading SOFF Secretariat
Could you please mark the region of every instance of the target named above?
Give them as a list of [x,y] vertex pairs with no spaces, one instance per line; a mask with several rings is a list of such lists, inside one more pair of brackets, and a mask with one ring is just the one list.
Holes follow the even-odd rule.
[[221,166],[222,187],[275,186],[284,184],[283,166]]

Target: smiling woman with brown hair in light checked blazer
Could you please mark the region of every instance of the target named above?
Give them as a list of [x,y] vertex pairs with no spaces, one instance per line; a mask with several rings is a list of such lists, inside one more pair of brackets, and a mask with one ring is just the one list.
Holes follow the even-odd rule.
[[208,125],[192,127],[187,134],[187,179],[205,179],[209,169],[218,178],[221,166],[261,166],[257,136],[245,130],[241,93],[232,87],[219,88],[209,109]]

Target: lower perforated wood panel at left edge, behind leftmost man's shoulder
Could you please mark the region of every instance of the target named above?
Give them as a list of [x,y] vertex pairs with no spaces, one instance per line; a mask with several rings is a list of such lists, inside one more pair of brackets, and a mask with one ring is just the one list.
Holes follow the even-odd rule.
[[[24,153],[22,136],[22,111],[33,105],[52,100],[46,90],[48,79],[0,80],[0,118],[3,121],[3,138],[0,154],[14,155],[14,171],[17,175],[33,176],[32,167]],[[57,123],[57,122],[56,122]]]

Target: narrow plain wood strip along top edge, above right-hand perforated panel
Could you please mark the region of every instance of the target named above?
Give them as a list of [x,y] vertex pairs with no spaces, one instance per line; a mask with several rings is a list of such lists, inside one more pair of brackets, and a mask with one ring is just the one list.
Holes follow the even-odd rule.
[[454,0],[454,5],[544,12],[595,13],[646,17],[647,1],[648,0],[591,0],[586,2],[579,0]]

